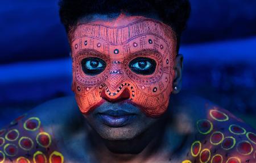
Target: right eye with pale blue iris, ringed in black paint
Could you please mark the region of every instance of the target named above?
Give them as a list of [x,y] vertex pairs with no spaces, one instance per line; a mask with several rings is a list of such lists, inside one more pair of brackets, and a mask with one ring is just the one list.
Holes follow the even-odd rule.
[[137,74],[149,75],[155,72],[156,62],[151,58],[137,57],[130,61],[129,68]]

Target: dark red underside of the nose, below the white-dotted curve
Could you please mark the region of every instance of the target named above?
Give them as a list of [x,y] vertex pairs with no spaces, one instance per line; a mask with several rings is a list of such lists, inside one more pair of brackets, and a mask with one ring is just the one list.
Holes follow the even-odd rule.
[[101,92],[101,97],[109,102],[118,102],[123,101],[130,98],[130,91],[129,89],[125,88],[121,94],[113,95],[112,97],[108,97],[105,93],[105,89]]

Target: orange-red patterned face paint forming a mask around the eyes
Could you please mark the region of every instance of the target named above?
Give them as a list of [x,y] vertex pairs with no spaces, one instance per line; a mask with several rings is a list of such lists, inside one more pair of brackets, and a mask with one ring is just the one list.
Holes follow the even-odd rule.
[[[106,99],[130,92],[129,103],[146,115],[157,117],[168,107],[174,78],[176,36],[171,27],[153,19],[127,20],[122,26],[98,22],[79,24],[72,34],[72,90],[80,111],[89,114]],[[89,76],[81,60],[98,57],[106,62],[101,73]],[[154,70],[136,72],[129,66],[135,58],[148,58]],[[108,98],[102,98],[102,90]]]

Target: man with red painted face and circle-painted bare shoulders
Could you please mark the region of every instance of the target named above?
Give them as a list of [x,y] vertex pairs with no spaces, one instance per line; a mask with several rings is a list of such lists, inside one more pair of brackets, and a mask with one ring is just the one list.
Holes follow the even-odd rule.
[[[73,97],[0,130],[0,162],[255,162],[255,130],[181,89],[189,2],[60,2]],[[80,110],[80,111],[79,111]]]

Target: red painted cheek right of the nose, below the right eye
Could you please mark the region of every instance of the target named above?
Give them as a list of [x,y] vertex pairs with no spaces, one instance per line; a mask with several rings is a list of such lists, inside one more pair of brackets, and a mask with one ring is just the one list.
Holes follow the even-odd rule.
[[[130,103],[141,108],[150,117],[160,116],[168,108],[175,76],[172,54],[175,52],[164,49],[164,46],[161,53],[155,53],[156,70],[151,75],[140,76],[126,69],[126,74],[134,83],[135,91],[135,97]],[[127,63],[124,65],[126,67]]]

